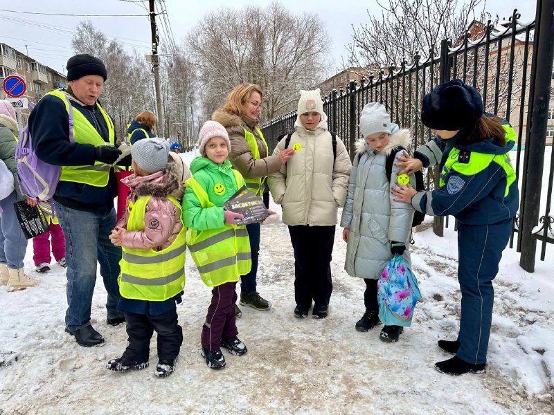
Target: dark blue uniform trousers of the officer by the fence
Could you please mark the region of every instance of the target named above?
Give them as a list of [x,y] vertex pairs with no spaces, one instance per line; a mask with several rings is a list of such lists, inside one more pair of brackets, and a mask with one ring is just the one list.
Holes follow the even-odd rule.
[[458,282],[462,309],[457,356],[473,365],[487,362],[494,301],[492,280],[497,276],[511,231],[512,219],[494,225],[458,223]]

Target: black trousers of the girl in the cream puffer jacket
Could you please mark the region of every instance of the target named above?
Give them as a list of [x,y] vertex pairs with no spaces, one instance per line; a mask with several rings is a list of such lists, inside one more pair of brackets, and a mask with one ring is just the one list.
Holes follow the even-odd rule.
[[289,226],[294,248],[294,299],[298,306],[327,306],[333,291],[333,226]]

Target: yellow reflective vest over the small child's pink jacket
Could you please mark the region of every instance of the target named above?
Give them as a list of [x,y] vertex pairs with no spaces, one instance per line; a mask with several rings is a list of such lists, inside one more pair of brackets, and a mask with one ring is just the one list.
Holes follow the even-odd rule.
[[[127,230],[144,230],[146,204],[152,196],[140,196],[134,205],[129,203]],[[181,218],[181,204],[175,197],[168,199],[177,206]],[[181,223],[183,219],[179,219]],[[167,248],[125,248],[119,265],[118,278],[122,297],[148,301],[164,301],[181,293],[185,288],[186,226]]]

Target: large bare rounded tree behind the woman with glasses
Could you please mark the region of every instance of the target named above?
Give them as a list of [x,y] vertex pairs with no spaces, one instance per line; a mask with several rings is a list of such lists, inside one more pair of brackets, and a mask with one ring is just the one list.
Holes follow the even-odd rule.
[[317,15],[294,15],[274,2],[208,14],[186,44],[204,83],[207,115],[235,85],[252,82],[262,86],[264,114],[273,118],[290,109],[299,89],[321,80],[330,40]]

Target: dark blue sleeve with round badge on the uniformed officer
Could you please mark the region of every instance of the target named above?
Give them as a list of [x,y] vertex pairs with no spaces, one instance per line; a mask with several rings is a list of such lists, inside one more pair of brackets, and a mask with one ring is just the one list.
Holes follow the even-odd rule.
[[456,215],[494,193],[494,187],[505,177],[506,172],[497,163],[491,163],[486,169],[471,176],[451,170],[445,175],[443,187],[418,192],[412,197],[411,204],[414,209],[432,216]]

